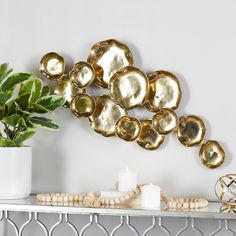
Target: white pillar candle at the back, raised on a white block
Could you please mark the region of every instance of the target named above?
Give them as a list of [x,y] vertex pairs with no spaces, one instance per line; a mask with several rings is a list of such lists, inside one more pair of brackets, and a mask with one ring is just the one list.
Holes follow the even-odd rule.
[[137,174],[126,168],[119,173],[118,189],[121,192],[134,191],[137,187]]

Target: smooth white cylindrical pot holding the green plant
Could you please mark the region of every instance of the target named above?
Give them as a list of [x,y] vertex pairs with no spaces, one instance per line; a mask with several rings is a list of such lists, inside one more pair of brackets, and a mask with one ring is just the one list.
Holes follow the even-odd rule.
[[0,147],[0,199],[31,193],[32,147]]

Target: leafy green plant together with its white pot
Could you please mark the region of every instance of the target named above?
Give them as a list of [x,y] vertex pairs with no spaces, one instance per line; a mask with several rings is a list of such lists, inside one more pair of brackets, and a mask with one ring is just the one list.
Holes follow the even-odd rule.
[[36,128],[58,130],[57,124],[39,114],[52,113],[64,103],[40,79],[0,64],[0,199],[31,193],[32,148],[24,143]]

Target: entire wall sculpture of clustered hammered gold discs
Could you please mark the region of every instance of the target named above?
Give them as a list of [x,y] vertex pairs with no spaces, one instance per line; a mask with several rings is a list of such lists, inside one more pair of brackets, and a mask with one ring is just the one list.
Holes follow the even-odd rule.
[[[178,118],[174,111],[182,97],[178,78],[163,70],[146,74],[133,64],[131,50],[109,39],[94,44],[87,61],[77,62],[67,74],[64,58],[56,52],[43,56],[40,71],[56,81],[54,93],[65,96],[66,107],[76,117],[88,117],[95,132],[136,141],[146,150],[159,148],[168,134],[175,133],[184,146],[200,146],[203,165],[221,166],[224,150],[217,141],[205,140],[203,120],[195,115]],[[87,92],[90,86],[108,89],[109,95],[93,97]],[[136,107],[145,107],[153,117],[139,120],[130,116],[129,110]]]

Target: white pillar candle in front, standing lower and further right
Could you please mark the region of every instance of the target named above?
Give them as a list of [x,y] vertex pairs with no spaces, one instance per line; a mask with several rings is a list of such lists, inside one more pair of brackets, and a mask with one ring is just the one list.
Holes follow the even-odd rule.
[[159,208],[161,205],[161,189],[157,185],[144,185],[141,189],[142,207]]

